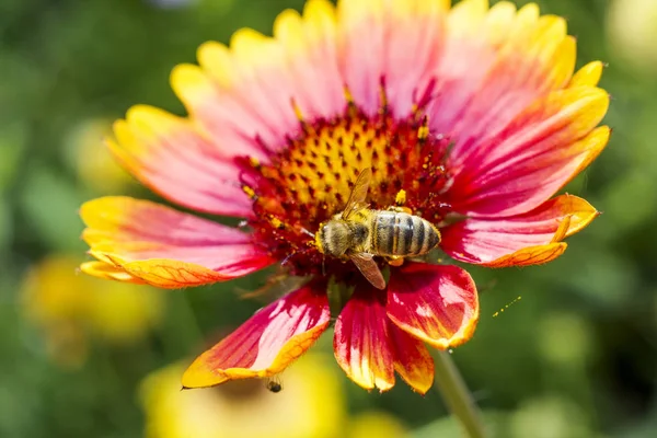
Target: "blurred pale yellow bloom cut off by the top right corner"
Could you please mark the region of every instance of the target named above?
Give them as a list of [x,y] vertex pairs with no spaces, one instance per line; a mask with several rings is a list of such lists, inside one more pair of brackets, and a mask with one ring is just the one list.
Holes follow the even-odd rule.
[[657,1],[613,0],[607,15],[610,45],[634,67],[657,70]]

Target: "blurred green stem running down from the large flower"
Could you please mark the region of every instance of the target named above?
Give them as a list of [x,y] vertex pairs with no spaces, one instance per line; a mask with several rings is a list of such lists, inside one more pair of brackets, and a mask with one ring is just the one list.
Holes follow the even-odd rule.
[[481,413],[451,355],[448,351],[438,351],[435,362],[436,381],[434,384],[442,395],[448,410],[461,422],[469,438],[484,438],[486,435]]

